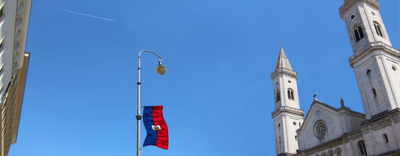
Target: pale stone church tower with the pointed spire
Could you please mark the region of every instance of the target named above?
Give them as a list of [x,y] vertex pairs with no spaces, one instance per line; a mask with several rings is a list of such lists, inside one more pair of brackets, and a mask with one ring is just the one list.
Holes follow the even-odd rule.
[[271,74],[275,111],[272,112],[276,156],[290,156],[298,150],[296,129],[303,122],[297,93],[297,72],[293,71],[282,47]]

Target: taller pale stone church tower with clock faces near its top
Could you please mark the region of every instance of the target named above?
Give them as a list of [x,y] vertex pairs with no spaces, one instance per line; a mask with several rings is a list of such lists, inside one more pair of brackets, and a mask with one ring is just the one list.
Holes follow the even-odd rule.
[[339,8],[353,53],[367,120],[400,108],[400,51],[390,43],[377,0],[344,0]]

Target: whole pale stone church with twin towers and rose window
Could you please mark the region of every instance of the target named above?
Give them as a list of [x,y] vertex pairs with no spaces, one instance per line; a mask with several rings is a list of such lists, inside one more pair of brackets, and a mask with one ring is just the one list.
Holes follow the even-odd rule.
[[276,156],[400,156],[400,50],[390,43],[379,7],[377,0],[344,0],[339,8],[365,114],[314,95],[304,118],[297,72],[281,47],[271,74]]

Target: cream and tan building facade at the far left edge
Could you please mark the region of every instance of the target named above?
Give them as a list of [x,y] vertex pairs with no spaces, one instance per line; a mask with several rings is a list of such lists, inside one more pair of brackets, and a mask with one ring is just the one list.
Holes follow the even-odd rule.
[[30,53],[25,52],[32,0],[0,0],[1,156],[18,136]]

